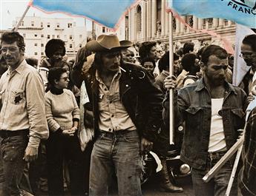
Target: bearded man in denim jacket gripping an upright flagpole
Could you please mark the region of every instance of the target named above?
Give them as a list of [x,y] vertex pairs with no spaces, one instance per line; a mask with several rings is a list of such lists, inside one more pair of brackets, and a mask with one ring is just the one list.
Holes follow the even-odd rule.
[[[203,50],[203,78],[188,84],[178,92],[178,115],[185,121],[180,158],[192,167],[191,177],[196,196],[225,195],[232,173],[234,157],[209,183],[203,176],[234,145],[243,129],[246,93],[226,82],[228,53],[222,47],[210,45]],[[174,89],[174,76],[165,79],[165,87]],[[164,101],[167,108],[168,99]],[[174,104],[176,105],[176,104]],[[230,195],[237,195],[237,178]]]

